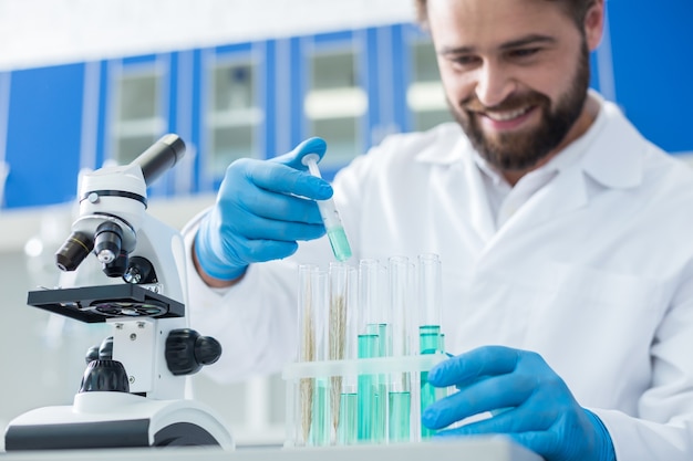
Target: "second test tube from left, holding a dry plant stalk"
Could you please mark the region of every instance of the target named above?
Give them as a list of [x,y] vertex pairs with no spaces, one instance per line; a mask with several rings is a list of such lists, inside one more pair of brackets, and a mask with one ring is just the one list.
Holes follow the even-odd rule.
[[[330,264],[330,360],[358,358],[358,271],[345,263]],[[332,442],[358,442],[358,377],[331,379]]]

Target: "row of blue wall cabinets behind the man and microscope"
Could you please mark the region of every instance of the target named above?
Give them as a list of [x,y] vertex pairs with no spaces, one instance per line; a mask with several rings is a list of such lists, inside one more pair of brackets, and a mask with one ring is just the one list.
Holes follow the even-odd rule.
[[[591,86],[655,144],[693,151],[685,11],[659,12],[665,21],[643,34],[647,9],[608,8],[617,19],[591,56]],[[232,160],[271,158],[309,136],[328,142],[329,179],[391,133],[449,119],[430,38],[408,23],[6,72],[2,207],[73,200],[81,169],[127,163],[168,132],[188,151],[153,197],[214,191]]]

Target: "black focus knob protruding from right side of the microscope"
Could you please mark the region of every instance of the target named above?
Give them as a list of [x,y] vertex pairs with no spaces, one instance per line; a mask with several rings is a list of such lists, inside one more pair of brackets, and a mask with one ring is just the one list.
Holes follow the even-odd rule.
[[194,329],[174,329],[166,338],[166,365],[176,376],[193,375],[221,356],[221,345],[210,336]]

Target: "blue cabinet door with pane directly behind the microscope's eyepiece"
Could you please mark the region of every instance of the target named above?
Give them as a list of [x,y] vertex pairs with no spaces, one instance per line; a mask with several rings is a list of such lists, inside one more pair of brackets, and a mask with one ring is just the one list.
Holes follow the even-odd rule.
[[149,197],[196,190],[198,63],[197,51],[105,62],[100,164],[128,164],[166,133],[179,135],[186,144],[186,154],[175,168],[149,185]]

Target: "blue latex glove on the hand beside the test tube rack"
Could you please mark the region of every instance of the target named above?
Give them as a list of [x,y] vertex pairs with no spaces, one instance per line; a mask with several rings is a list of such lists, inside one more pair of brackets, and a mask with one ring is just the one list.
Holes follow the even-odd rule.
[[428,381],[459,389],[424,410],[423,423],[430,429],[503,409],[493,418],[442,430],[436,437],[504,433],[548,461],[616,459],[601,420],[578,405],[538,354],[480,347],[436,365]]

